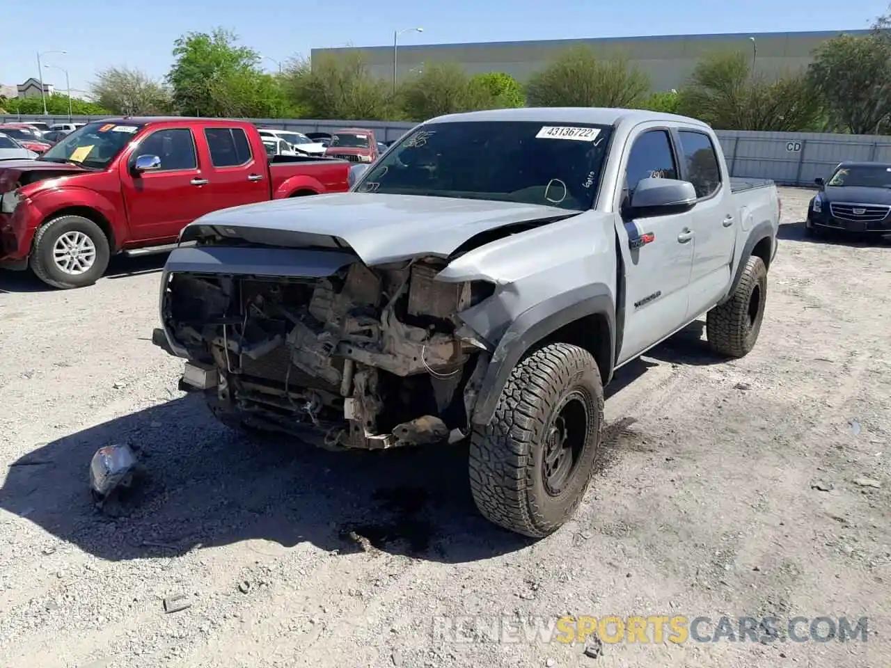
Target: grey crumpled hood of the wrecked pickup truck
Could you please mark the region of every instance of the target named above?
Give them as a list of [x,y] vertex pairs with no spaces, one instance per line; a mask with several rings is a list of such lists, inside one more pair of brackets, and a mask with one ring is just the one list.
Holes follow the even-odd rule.
[[552,222],[580,211],[492,200],[342,192],[225,208],[186,226],[225,227],[225,236],[282,246],[352,248],[366,265],[411,257],[448,257],[481,232],[518,223]]

